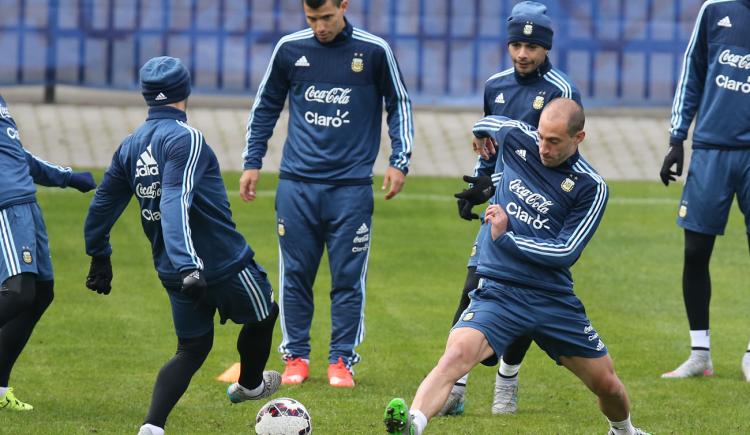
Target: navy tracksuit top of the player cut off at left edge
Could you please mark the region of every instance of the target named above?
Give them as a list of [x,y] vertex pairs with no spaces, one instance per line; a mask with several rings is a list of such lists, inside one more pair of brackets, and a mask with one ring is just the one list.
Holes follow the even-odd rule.
[[3,188],[0,189],[0,209],[17,204],[36,201],[36,187],[66,187],[73,171],[46,162],[28,152],[21,144],[8,105],[0,96],[0,174]]

